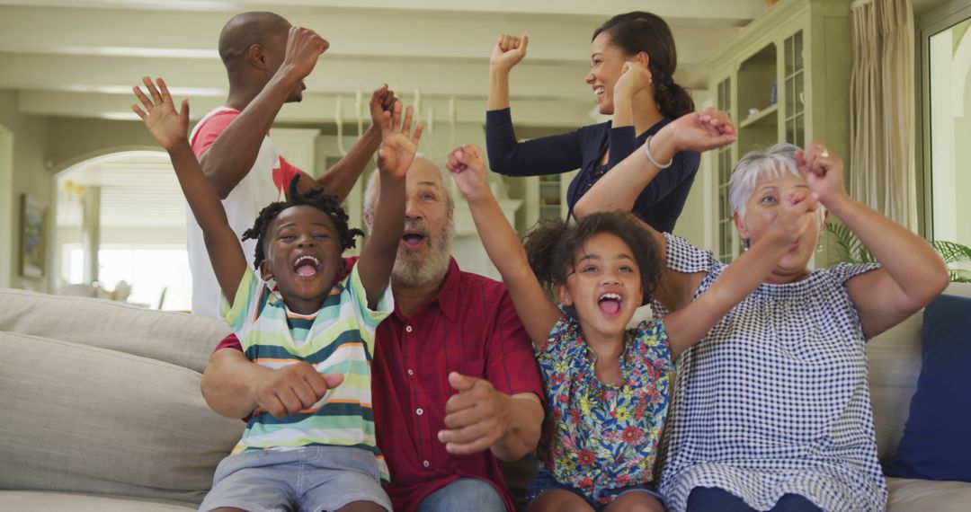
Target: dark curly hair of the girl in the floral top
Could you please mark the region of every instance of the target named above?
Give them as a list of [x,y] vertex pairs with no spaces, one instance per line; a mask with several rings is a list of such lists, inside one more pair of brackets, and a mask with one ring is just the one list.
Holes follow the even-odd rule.
[[653,295],[661,275],[661,256],[651,233],[631,213],[605,211],[567,224],[561,219],[543,221],[523,239],[526,258],[540,284],[552,297],[557,285],[574,272],[577,250],[599,233],[616,235],[630,247],[641,273],[644,303]]

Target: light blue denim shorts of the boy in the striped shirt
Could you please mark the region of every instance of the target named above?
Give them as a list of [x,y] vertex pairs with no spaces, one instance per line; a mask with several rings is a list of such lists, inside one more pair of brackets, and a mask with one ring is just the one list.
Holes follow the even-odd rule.
[[391,510],[374,454],[346,446],[306,446],[226,457],[199,510],[318,512],[353,501],[371,501]]

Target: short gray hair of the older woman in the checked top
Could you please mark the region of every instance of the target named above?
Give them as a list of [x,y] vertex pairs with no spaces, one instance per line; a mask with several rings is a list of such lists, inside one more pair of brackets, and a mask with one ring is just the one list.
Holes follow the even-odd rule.
[[[799,147],[793,144],[775,144],[764,151],[754,150],[746,153],[735,164],[731,178],[728,180],[728,203],[732,211],[738,212],[745,218],[745,209],[749,198],[755,191],[755,185],[765,177],[798,176],[802,177],[795,163],[795,150]],[[820,205],[820,217],[825,208]]]

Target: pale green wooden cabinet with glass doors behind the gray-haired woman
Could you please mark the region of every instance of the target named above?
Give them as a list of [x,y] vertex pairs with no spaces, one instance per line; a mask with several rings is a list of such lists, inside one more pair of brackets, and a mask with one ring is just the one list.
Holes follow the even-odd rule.
[[[850,3],[784,0],[753,20],[704,65],[709,90],[729,112],[738,141],[715,152],[715,254],[730,261],[742,250],[728,204],[728,178],[753,149],[822,141],[846,162],[850,154]],[[815,265],[832,260],[825,247]]]

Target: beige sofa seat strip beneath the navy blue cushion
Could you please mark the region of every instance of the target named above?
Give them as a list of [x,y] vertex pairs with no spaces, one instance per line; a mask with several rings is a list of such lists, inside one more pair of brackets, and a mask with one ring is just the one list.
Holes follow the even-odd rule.
[[887,478],[887,512],[967,512],[971,484]]

